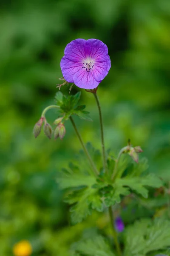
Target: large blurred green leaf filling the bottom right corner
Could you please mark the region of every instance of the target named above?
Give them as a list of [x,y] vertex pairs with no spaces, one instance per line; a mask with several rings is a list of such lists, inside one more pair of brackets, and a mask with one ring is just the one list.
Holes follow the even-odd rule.
[[[125,256],[146,256],[170,246],[170,221],[143,219],[125,230]],[[156,253],[155,253],[156,254]]]

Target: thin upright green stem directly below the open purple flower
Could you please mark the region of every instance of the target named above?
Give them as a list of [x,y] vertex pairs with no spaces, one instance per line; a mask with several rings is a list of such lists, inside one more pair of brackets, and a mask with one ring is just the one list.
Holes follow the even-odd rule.
[[101,139],[102,139],[103,168],[105,171],[107,171],[107,160],[106,160],[106,155],[105,155],[105,141],[104,141],[104,132],[103,132],[102,111],[101,111],[99,98],[96,93],[94,93],[94,97],[96,99],[97,107],[99,110],[99,122],[100,122]]

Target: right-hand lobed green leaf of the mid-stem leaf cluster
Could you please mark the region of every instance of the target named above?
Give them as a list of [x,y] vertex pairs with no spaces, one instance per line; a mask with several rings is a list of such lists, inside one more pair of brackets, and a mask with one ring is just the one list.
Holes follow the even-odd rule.
[[[112,159],[109,162],[113,162]],[[113,168],[114,164],[109,164]],[[154,174],[147,174],[147,160],[140,160],[139,164],[131,163],[127,160],[127,156],[123,157],[118,166],[118,178],[114,183],[112,181],[101,181],[95,184],[99,188],[102,198],[104,198],[107,207],[119,204],[124,195],[129,195],[131,192],[136,192],[144,198],[148,197],[148,188],[159,188],[163,182]],[[113,172],[113,169],[112,169]],[[111,170],[109,170],[111,173]],[[122,177],[120,177],[122,175]],[[125,176],[126,175],[126,176]],[[125,176],[125,177],[124,177]]]

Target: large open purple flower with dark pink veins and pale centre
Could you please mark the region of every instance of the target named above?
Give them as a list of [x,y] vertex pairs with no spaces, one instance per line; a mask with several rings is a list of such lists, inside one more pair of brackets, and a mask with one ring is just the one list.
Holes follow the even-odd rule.
[[60,63],[62,75],[80,88],[96,88],[111,68],[108,47],[98,39],[71,41],[64,54]]

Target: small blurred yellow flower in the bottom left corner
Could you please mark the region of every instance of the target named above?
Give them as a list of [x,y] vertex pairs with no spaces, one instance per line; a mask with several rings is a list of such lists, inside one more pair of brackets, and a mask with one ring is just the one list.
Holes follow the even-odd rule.
[[13,253],[15,256],[30,256],[32,253],[31,244],[27,240],[22,240],[14,244]]

